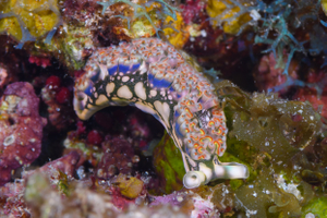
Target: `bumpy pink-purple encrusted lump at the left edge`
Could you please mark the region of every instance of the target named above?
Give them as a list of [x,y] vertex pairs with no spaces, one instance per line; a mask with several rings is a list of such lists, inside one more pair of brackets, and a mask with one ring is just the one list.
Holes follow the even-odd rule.
[[40,154],[46,119],[38,113],[39,99],[29,83],[10,84],[0,100],[0,185],[11,170],[33,162]]

